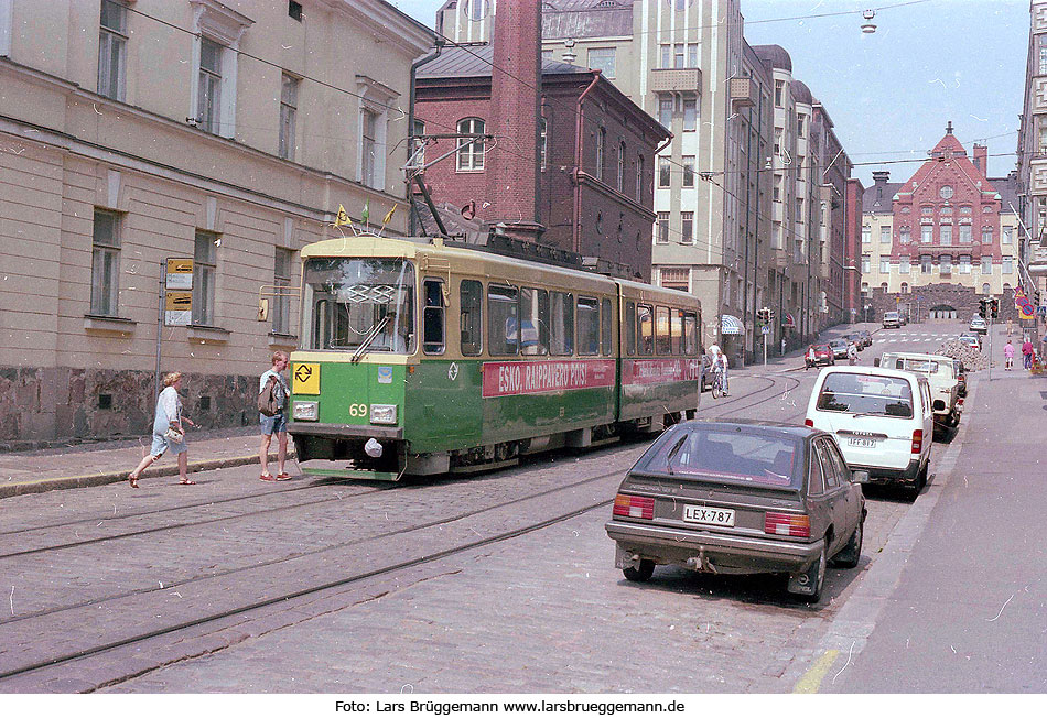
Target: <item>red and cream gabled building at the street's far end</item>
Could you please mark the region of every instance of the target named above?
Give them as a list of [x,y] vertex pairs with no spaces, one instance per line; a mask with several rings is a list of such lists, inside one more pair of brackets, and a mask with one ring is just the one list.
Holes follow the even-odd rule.
[[873,173],[863,197],[862,292],[876,320],[887,309],[913,317],[968,319],[981,297],[1014,316],[1021,282],[1017,177],[986,176],[987,148],[969,157],[952,123],[905,182]]

